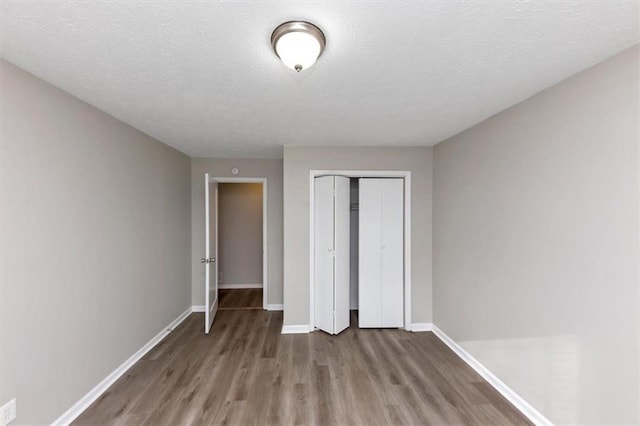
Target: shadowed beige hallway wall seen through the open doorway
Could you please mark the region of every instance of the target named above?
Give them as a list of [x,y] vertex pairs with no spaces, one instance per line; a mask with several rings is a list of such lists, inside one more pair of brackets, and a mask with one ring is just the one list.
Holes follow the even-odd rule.
[[262,184],[218,185],[220,284],[262,284]]

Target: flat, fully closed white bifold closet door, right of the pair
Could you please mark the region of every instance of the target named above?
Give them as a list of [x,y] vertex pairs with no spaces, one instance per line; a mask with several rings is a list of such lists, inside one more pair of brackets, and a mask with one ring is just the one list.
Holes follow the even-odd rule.
[[358,326],[402,327],[404,183],[360,179]]

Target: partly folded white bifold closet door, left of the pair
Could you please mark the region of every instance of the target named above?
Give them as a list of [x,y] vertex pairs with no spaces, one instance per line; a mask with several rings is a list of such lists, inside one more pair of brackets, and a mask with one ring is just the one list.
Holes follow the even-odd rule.
[[349,178],[314,180],[315,326],[329,334],[349,327]]

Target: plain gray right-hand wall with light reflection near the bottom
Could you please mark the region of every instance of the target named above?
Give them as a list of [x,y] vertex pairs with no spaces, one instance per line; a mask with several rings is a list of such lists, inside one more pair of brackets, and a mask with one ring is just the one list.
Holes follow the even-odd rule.
[[556,423],[637,423],[634,47],[435,147],[435,324]]

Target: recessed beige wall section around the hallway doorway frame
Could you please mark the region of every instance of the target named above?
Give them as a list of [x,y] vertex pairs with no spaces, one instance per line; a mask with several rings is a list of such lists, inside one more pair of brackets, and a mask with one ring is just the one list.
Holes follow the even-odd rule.
[[282,160],[248,158],[191,159],[191,297],[204,305],[204,175],[267,178],[267,297],[268,304],[282,304]]

